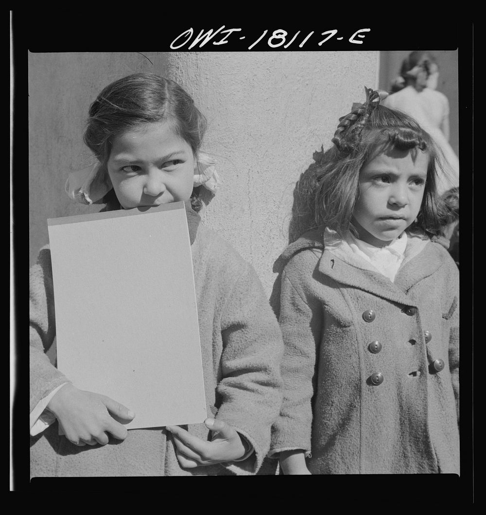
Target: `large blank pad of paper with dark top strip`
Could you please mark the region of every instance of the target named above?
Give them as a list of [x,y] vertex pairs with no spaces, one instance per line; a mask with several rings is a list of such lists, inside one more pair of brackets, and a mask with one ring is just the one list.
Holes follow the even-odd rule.
[[49,219],[48,230],[59,370],[134,411],[129,429],[203,422],[184,203]]

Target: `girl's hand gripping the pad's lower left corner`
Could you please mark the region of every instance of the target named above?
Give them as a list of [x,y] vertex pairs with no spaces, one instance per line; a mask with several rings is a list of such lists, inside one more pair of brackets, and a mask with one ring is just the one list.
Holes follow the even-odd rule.
[[79,390],[72,384],[63,386],[47,404],[59,421],[66,438],[76,445],[108,443],[111,433],[125,440],[128,424],[135,416],[123,404],[99,393]]

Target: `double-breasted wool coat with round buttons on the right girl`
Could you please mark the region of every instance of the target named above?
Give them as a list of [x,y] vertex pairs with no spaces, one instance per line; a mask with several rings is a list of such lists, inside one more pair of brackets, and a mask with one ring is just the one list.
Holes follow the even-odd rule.
[[409,235],[392,283],[322,242],[307,233],[281,256],[285,385],[272,456],[311,451],[314,474],[459,473],[457,266],[440,243]]

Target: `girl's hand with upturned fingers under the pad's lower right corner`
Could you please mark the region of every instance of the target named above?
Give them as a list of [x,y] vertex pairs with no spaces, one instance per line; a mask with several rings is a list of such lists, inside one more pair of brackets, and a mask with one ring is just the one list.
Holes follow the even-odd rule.
[[206,419],[204,424],[213,432],[213,440],[201,440],[182,427],[167,426],[176,442],[176,455],[181,467],[193,469],[233,461],[244,456],[246,449],[237,431],[222,420]]

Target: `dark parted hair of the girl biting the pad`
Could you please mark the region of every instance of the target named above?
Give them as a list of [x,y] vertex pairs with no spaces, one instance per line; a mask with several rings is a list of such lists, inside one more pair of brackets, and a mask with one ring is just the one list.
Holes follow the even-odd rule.
[[[144,123],[167,121],[195,156],[201,147],[206,119],[192,97],[170,79],[150,73],[128,75],[109,84],[91,104],[84,143],[106,170],[114,138]],[[199,211],[199,187],[191,203]]]

